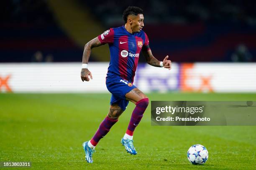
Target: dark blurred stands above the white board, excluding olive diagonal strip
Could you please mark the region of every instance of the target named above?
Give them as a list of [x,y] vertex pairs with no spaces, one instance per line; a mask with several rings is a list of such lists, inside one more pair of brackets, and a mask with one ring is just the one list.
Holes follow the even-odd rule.
[[[256,61],[254,0],[74,2],[89,10],[102,30],[123,24],[122,13],[127,6],[141,7],[145,23],[150,25],[145,30],[156,56],[169,54],[178,62]],[[48,0],[5,0],[1,6],[0,55],[5,57],[0,62],[81,60],[82,47],[61,28]],[[165,29],[157,33],[161,27]],[[183,35],[184,30],[190,33]],[[93,56],[91,60],[95,61]]]

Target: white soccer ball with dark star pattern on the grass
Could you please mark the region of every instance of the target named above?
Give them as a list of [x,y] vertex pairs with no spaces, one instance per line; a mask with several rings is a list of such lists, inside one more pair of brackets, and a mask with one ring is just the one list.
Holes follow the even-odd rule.
[[203,164],[208,159],[208,151],[203,145],[193,145],[187,151],[187,159],[194,165]]

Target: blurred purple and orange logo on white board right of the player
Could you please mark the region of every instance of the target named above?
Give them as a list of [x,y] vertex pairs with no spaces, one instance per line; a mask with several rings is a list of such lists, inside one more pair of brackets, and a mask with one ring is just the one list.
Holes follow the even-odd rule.
[[216,67],[226,69],[226,65],[218,64],[173,63],[171,72],[167,69],[159,72],[157,67],[138,65],[135,84],[143,91],[214,92],[217,87],[223,90],[224,81],[223,70],[216,71]]

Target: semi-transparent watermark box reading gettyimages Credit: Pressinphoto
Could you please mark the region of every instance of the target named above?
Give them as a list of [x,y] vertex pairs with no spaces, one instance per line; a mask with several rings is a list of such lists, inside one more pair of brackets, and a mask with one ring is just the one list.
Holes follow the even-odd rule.
[[256,102],[151,101],[151,125],[256,125]]

